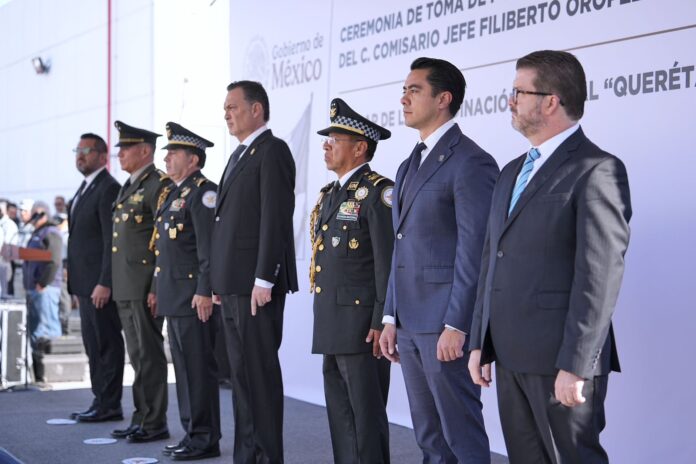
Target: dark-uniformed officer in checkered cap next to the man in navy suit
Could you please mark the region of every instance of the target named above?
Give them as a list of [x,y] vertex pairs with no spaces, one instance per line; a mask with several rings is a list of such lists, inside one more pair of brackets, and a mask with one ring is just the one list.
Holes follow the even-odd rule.
[[338,181],[324,187],[312,213],[312,352],[324,355],[324,394],[336,463],[388,463],[389,362],[379,336],[394,232],[394,183],[370,169],[377,142],[391,133],[331,102],[319,131],[324,160]]

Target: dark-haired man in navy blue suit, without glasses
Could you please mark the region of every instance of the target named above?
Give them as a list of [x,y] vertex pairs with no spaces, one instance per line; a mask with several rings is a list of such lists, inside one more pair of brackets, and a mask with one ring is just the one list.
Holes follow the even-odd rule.
[[396,174],[380,343],[401,361],[424,462],[490,462],[481,389],[464,348],[498,166],[453,121],[465,87],[452,63],[418,58],[401,98],[420,142]]

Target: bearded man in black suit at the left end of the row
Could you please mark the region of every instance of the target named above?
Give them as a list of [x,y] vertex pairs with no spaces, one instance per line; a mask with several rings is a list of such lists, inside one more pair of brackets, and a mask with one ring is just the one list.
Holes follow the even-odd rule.
[[106,169],[104,139],[83,134],[74,151],[85,179],[68,205],[68,291],[80,302],[94,398],[86,411],[72,417],[80,422],[120,420],[125,350],[111,298],[111,208],[121,186]]

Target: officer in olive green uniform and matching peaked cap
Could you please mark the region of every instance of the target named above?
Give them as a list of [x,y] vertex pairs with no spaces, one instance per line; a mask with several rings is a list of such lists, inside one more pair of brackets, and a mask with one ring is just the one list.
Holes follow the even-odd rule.
[[162,317],[155,317],[152,242],[154,216],[163,189],[171,185],[155,169],[155,142],[160,134],[116,121],[121,169],[130,178],[114,204],[111,256],[113,299],[118,306],[126,348],[135,371],[131,425],[112,432],[129,442],[169,438],[167,429],[167,359],[164,356]]

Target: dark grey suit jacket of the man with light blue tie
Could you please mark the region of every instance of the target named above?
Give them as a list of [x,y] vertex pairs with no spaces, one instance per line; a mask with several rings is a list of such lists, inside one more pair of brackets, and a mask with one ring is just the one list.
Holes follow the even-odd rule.
[[482,363],[522,373],[619,370],[611,315],[629,238],[626,169],[578,129],[508,217],[525,157],[495,188],[470,348],[482,348]]

